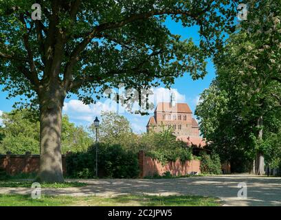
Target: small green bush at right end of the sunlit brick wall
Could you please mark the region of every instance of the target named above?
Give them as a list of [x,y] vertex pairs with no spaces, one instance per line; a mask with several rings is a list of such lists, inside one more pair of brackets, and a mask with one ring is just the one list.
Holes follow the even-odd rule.
[[221,160],[217,154],[213,153],[212,155],[207,155],[207,153],[201,152],[200,157],[201,173],[221,174]]

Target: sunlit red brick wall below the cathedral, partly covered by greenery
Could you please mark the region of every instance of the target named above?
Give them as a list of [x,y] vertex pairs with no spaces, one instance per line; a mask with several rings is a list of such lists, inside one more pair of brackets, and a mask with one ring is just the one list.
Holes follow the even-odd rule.
[[181,162],[179,159],[176,162],[168,162],[162,165],[157,159],[146,157],[144,151],[139,151],[139,177],[152,176],[155,174],[162,175],[169,171],[172,175],[188,175],[189,173],[200,172],[200,161],[192,159],[191,161]]

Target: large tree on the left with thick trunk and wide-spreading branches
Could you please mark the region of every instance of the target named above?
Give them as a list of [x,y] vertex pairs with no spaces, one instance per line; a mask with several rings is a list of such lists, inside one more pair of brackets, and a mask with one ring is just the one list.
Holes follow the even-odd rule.
[[[40,108],[42,181],[63,181],[61,118],[73,93],[93,102],[104,89],[166,85],[188,72],[205,75],[205,58],[233,30],[235,1],[39,0],[0,2],[0,83],[10,96],[25,95]],[[183,26],[198,25],[199,46],[181,41],[164,25],[170,16]]]

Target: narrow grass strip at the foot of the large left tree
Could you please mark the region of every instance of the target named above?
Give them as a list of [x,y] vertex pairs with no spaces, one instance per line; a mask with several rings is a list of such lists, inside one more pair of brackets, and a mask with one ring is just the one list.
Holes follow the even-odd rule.
[[[34,181],[0,181],[0,187],[26,187],[30,188]],[[41,183],[42,188],[67,188],[67,187],[81,187],[87,186],[85,183],[81,183],[78,181],[65,181],[63,183]]]

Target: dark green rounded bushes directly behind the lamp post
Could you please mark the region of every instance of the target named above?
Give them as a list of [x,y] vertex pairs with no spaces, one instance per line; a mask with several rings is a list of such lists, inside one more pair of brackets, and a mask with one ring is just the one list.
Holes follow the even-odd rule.
[[[87,153],[75,153],[67,157],[67,175],[74,178],[95,177],[95,145]],[[118,144],[99,144],[98,175],[111,178],[137,177],[137,154],[126,151]]]

